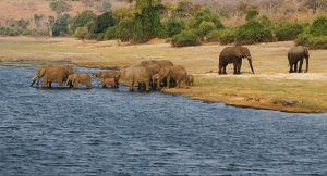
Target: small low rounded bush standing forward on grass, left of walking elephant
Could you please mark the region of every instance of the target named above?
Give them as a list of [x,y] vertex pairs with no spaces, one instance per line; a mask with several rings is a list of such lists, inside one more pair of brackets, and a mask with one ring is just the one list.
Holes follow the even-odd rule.
[[171,39],[172,47],[186,47],[201,45],[199,37],[192,32],[182,32]]

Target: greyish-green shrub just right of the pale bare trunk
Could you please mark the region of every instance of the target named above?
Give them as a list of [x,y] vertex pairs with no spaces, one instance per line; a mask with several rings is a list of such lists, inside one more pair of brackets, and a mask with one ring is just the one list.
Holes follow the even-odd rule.
[[69,14],[60,14],[52,27],[52,35],[53,36],[63,36],[68,35],[69,33],[69,21],[71,20]]

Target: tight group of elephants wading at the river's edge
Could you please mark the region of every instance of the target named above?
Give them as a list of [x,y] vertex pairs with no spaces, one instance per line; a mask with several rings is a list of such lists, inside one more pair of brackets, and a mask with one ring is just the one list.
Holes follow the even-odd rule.
[[70,65],[41,65],[32,78],[33,86],[51,87],[57,83],[59,87],[68,86],[77,88],[80,84],[92,88],[92,79],[96,78],[102,87],[118,88],[120,79],[123,79],[130,91],[134,91],[134,86],[148,90],[160,90],[161,87],[181,87],[184,83],[186,86],[193,86],[194,76],[187,74],[181,65],[173,65],[171,61],[142,61],[137,66],[124,66],[120,71],[97,72],[92,75],[87,73],[74,73]]

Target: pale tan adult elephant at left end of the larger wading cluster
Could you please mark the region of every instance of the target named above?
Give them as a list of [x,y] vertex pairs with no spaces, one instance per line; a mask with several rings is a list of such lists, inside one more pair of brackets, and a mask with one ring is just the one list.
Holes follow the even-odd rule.
[[145,84],[145,90],[149,91],[150,72],[144,66],[129,66],[120,71],[121,78],[128,81],[129,90],[134,91],[134,85]]

